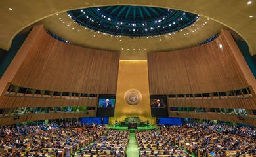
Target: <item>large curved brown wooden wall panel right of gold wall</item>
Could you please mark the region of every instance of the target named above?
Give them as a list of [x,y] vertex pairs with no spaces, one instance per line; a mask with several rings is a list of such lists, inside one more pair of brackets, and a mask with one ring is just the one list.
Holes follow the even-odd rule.
[[249,86],[223,33],[202,46],[148,53],[148,73],[150,94],[197,94]]

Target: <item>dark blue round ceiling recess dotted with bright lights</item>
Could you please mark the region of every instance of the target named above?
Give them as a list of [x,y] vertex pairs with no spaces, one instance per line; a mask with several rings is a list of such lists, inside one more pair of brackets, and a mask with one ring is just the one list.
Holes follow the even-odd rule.
[[145,37],[189,27],[199,16],[181,10],[117,5],[68,11],[79,25],[111,35]]

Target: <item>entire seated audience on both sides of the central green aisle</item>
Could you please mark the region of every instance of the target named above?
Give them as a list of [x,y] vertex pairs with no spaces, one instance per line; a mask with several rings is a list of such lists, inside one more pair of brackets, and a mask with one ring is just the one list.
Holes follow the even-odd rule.
[[[140,157],[256,156],[253,126],[187,123],[136,131]],[[125,157],[129,131],[79,121],[53,121],[30,126],[0,126],[2,156]]]

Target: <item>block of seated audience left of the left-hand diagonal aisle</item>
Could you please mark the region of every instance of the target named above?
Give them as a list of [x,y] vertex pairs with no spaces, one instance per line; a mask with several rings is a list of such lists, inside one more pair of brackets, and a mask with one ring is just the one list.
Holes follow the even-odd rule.
[[104,126],[81,122],[1,126],[0,156],[70,156],[101,137]]

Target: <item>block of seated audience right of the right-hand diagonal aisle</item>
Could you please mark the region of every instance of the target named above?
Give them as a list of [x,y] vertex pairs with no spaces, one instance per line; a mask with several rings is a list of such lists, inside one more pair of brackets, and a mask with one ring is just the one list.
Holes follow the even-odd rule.
[[255,156],[255,128],[189,123],[162,126],[161,135],[196,156]]

